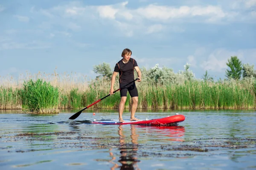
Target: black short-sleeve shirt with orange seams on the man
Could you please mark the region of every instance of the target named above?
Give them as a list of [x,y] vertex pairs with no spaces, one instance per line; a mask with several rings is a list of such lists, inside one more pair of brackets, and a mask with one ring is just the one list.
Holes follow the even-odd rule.
[[119,72],[119,83],[130,83],[134,81],[134,67],[138,66],[137,62],[130,58],[127,63],[123,63],[122,60],[116,63],[114,72]]

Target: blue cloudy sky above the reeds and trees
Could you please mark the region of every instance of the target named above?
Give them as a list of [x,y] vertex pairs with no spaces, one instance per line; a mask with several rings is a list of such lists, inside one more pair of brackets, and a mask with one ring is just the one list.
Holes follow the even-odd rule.
[[256,65],[256,0],[0,0],[0,76],[95,78],[125,48],[140,68],[225,78],[231,56]]

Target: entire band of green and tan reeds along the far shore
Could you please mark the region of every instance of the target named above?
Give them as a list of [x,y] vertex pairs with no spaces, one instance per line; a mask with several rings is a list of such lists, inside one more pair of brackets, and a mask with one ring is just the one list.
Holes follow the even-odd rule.
[[[31,79],[29,79],[31,78]],[[100,78],[85,81],[85,77],[75,74],[29,75],[15,80],[0,78],[0,109],[35,109],[35,112],[57,112],[59,109],[84,108],[109,94],[110,80]],[[23,80],[24,86],[21,86]],[[42,83],[44,81],[44,83]],[[35,83],[34,83],[35,82]],[[46,83],[47,82],[47,83]],[[38,84],[35,87],[33,84]],[[219,81],[205,82],[199,80],[183,83],[155,83],[144,79],[137,84],[139,91],[138,108],[141,109],[255,109],[256,81]],[[40,89],[39,88],[42,88]],[[114,89],[118,89],[116,80]],[[44,93],[40,93],[44,90]],[[49,90],[46,92],[46,90]],[[32,95],[33,94],[33,95]],[[39,99],[44,98],[44,100]],[[49,100],[45,104],[45,100]],[[36,101],[36,102],[35,102]],[[117,109],[120,101],[119,92],[109,96],[91,108]],[[52,111],[47,110],[52,103]],[[125,109],[131,108],[128,95]],[[34,104],[34,105],[32,105]],[[47,107],[45,107],[47,106]],[[43,110],[36,110],[38,108]]]

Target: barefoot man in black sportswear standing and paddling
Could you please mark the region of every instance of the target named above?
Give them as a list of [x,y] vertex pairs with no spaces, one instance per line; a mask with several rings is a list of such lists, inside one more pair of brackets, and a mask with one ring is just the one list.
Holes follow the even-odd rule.
[[[125,86],[126,84],[130,83],[131,81],[134,81],[134,69],[136,70],[138,78],[139,78],[139,80],[137,80],[137,81],[141,81],[140,68],[137,65],[137,62],[133,58],[131,58],[131,54],[132,54],[132,52],[130,49],[124,49],[122,52],[122,60],[120,60],[118,63],[116,63],[113,75],[111,77],[111,88],[109,91],[110,95],[113,95],[116,75],[118,73],[119,73],[120,88],[122,86]],[[134,117],[137,106],[138,106],[138,90],[135,85],[135,82],[133,82],[132,84],[129,84],[128,86],[125,86],[125,88],[120,90],[121,101],[120,101],[119,108],[118,108],[120,122],[124,122],[124,120],[122,118],[122,113],[123,113],[124,107],[125,107],[127,91],[131,95],[131,99],[132,99],[130,120],[131,121],[139,120]]]

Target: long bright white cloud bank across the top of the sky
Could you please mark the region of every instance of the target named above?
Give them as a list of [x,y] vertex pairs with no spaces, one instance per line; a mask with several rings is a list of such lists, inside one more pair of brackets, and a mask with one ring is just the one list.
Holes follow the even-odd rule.
[[[222,6],[160,6],[157,3],[137,8],[128,8],[128,2],[105,6],[84,6],[83,3],[71,2],[51,9],[33,9],[49,17],[42,22],[41,28],[52,29],[62,26],[72,31],[90,28],[91,23],[113,28],[115,35],[132,37],[137,34],[166,32],[185,32],[182,24],[186,23],[227,23],[237,20],[252,20],[241,17],[239,12],[226,10]],[[182,23],[182,24],[181,24]]]

